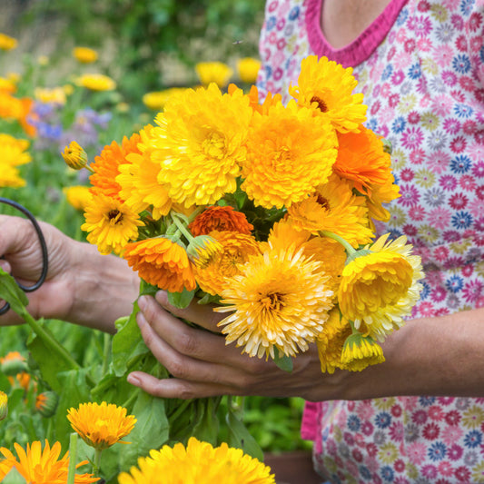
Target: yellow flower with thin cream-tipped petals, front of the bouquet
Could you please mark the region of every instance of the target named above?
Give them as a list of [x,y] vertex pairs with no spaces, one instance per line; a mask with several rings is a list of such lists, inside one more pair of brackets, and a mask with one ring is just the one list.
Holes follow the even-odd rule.
[[322,264],[302,251],[271,250],[249,258],[226,282],[222,306],[232,312],[219,323],[227,344],[236,341],[250,356],[295,356],[321,333],[333,292]]

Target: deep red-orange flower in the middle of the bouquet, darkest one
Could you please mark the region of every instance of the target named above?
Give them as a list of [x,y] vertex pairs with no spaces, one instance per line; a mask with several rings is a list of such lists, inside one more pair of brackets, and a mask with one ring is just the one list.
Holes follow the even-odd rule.
[[253,225],[247,221],[245,213],[237,212],[229,205],[224,207],[214,205],[197,215],[188,228],[194,236],[208,235],[212,231],[250,234]]

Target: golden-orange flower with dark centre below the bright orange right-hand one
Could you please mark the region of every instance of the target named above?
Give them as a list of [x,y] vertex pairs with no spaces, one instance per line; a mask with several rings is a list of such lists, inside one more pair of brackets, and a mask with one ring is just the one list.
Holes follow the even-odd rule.
[[289,217],[301,229],[340,235],[353,247],[371,241],[366,199],[353,194],[351,183],[331,175],[311,197],[288,207]]

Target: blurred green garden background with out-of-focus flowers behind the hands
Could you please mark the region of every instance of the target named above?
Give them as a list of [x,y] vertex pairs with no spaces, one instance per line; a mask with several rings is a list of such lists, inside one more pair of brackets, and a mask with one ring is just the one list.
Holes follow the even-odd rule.
[[[155,115],[172,89],[235,83],[249,90],[259,67],[260,0],[2,0],[0,2],[0,197],[84,241],[89,172],[61,153],[76,141],[93,161]],[[17,214],[5,204],[1,213]],[[102,364],[106,337],[45,321],[83,368]],[[31,354],[29,328],[0,328],[0,390],[11,447],[67,429],[64,410],[46,411],[53,390]],[[309,449],[301,399],[246,398],[243,421],[266,452]],[[64,423],[59,423],[59,421]],[[56,435],[57,432],[57,435]],[[64,453],[64,452],[63,452]]]

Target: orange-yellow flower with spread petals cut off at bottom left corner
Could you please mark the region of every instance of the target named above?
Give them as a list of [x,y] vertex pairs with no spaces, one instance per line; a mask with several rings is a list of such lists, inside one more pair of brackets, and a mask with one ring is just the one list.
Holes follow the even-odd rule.
[[[69,452],[65,452],[64,457],[59,459],[61,454],[60,442],[55,442],[51,448],[48,440],[45,440],[44,449],[42,449],[39,440],[27,444],[26,449],[16,442],[14,447],[18,458],[15,458],[15,455],[9,449],[0,448],[0,452],[5,457],[4,460],[0,461],[0,479],[3,471],[6,470],[6,474],[8,470],[15,467],[25,479],[25,482],[29,484],[61,484],[67,482]],[[84,466],[84,464],[87,464],[87,460],[76,464],[75,469]],[[99,478],[94,478],[93,474],[75,474],[74,476],[74,484],[90,484],[98,480]]]

